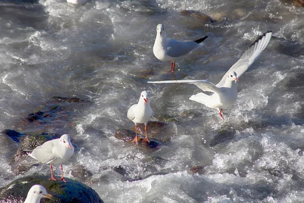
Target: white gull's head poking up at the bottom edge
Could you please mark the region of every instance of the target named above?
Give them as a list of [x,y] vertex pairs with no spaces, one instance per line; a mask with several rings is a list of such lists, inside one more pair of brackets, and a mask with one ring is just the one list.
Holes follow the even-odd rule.
[[40,203],[40,199],[44,197],[53,199],[53,196],[47,192],[46,188],[41,185],[33,185],[29,189],[24,203]]

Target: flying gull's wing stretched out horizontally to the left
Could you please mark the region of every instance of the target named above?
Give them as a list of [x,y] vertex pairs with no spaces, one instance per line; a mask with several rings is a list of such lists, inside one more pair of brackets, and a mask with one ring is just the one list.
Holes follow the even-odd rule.
[[164,80],[164,81],[149,81],[147,83],[190,83],[198,86],[203,91],[220,93],[221,89],[216,87],[208,80]]

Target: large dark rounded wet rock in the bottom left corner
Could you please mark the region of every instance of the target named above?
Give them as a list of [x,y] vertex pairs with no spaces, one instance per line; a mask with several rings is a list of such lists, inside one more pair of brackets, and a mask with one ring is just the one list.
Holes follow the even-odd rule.
[[41,202],[103,202],[98,194],[89,186],[65,178],[67,181],[49,181],[47,176],[27,176],[0,188],[0,202],[23,202],[27,192],[34,184],[43,185],[54,196],[54,200],[43,198]]

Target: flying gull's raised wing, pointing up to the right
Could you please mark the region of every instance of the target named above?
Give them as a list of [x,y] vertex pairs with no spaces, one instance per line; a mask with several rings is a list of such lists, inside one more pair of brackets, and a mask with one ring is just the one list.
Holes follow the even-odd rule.
[[[272,36],[272,31],[267,31],[258,40],[256,40],[241,56],[241,58],[229,69],[228,72],[236,72],[240,77],[250,65],[258,58],[260,53],[267,47]],[[226,74],[221,81],[216,85],[218,87],[223,86],[226,80]]]

